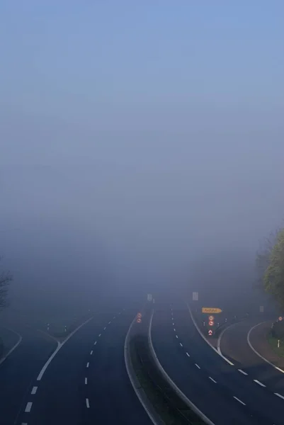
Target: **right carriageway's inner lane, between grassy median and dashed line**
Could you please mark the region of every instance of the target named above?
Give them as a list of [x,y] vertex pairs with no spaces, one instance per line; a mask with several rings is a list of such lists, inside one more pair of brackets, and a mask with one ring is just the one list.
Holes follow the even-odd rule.
[[[174,317],[174,327],[176,326]],[[222,391],[213,375],[209,373],[205,375],[198,363],[199,358],[196,358],[196,361],[192,358],[193,344],[188,346],[183,341],[183,347],[181,347],[179,338],[176,339],[174,327],[169,306],[157,305],[152,321],[154,350],[166,373],[196,407],[215,425],[267,424],[251,416],[251,412],[239,401],[242,401],[242,398],[234,399],[226,391]],[[204,341],[203,344],[205,344]]]

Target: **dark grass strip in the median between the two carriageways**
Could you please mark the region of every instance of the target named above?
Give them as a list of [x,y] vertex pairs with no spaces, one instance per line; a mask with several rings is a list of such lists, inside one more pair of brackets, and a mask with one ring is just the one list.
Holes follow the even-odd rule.
[[133,368],[149,402],[166,425],[204,425],[205,423],[181,400],[157,369],[149,351],[147,336],[130,340]]

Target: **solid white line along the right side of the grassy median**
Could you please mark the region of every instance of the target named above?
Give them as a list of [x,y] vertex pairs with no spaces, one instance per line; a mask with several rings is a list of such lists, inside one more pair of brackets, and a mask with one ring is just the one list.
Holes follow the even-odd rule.
[[154,346],[153,346],[153,343],[152,343],[152,336],[151,336],[153,316],[154,316],[154,310],[152,310],[152,317],[150,319],[150,324],[149,324],[149,329],[148,329],[148,342],[149,342],[150,351],[151,351],[152,356],[154,358],[154,362],[157,365],[157,368],[160,370],[160,372],[162,373],[162,375],[164,375],[164,378],[166,378],[166,380],[169,382],[169,385],[171,385],[171,387],[173,388],[174,392],[176,392],[176,394],[178,395],[178,397],[181,397],[181,399],[183,400],[183,402],[185,402],[186,405],[188,407],[190,407],[190,409],[193,410],[193,412],[195,412],[195,414],[197,414],[203,420],[203,422],[205,422],[205,424],[207,424],[207,425],[215,425],[214,422],[212,422],[208,418],[208,416],[206,416],[203,412],[201,412],[201,410],[198,409],[198,407],[196,407],[195,404],[193,404],[193,402],[191,402],[191,400],[188,399],[188,397],[186,397],[185,394],[183,394],[183,392],[178,388],[178,386],[174,383],[174,381],[171,380],[171,378],[169,377],[169,375],[166,373],[166,370],[164,370],[163,366],[159,362],[159,359],[157,358],[157,354],[154,351]]

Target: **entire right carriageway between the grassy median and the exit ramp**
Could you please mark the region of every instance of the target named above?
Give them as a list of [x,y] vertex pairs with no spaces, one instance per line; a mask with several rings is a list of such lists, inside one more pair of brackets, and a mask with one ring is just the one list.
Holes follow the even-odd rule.
[[284,399],[215,353],[183,302],[156,305],[152,341],[166,373],[215,425],[283,424]]

